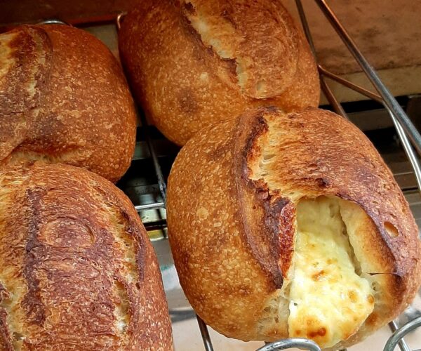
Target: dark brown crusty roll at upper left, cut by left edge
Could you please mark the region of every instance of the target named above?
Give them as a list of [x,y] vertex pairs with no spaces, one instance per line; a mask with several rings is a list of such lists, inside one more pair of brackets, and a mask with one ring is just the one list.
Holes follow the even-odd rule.
[[0,166],[43,159],[116,181],[135,147],[135,108],[116,58],[88,32],[0,34]]

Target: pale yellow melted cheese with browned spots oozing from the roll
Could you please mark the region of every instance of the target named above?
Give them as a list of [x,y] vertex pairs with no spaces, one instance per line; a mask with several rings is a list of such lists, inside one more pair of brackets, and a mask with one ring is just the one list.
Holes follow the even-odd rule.
[[356,274],[337,200],[300,201],[297,225],[288,333],[331,347],[352,336],[373,311],[372,290]]

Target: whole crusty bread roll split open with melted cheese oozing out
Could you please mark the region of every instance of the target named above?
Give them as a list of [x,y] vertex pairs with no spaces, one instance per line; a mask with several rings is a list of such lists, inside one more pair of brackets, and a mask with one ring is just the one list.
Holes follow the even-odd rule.
[[189,302],[232,338],[337,350],[420,286],[417,225],[392,173],[324,110],[248,110],[194,135],[168,180],[168,228]]

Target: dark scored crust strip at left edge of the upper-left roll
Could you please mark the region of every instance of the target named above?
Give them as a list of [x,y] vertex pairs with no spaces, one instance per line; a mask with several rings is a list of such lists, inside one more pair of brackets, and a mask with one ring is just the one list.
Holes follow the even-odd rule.
[[0,161],[27,136],[51,68],[52,46],[38,27],[0,36]]

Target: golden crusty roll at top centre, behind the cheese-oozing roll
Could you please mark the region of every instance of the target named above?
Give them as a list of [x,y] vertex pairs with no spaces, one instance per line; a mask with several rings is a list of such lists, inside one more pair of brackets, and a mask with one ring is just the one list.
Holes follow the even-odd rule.
[[319,77],[281,1],[139,1],[119,33],[135,96],[184,145],[248,106],[319,104]]

